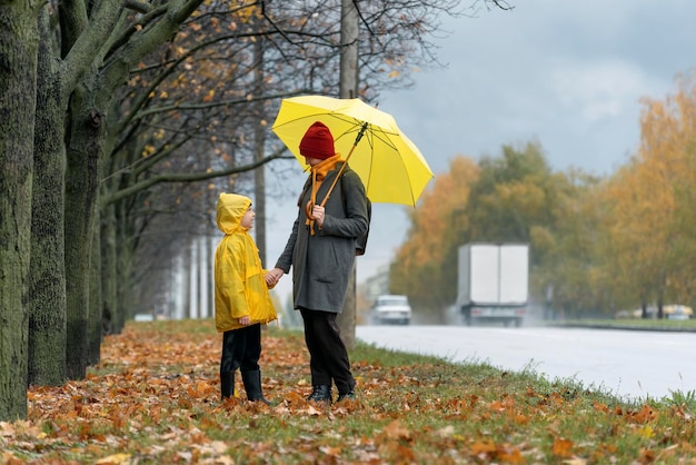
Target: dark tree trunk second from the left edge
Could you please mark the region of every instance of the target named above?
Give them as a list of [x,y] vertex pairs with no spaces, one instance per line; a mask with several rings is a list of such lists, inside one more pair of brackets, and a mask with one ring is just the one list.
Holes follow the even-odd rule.
[[29,384],[59,386],[66,380],[66,146],[58,73],[52,67],[48,10],[39,21],[34,171],[32,189],[29,309]]

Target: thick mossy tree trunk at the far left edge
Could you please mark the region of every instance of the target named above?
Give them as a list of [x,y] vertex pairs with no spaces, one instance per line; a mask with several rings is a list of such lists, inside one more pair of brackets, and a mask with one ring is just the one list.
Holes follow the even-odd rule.
[[38,55],[34,2],[0,8],[0,421],[27,417],[31,185]]

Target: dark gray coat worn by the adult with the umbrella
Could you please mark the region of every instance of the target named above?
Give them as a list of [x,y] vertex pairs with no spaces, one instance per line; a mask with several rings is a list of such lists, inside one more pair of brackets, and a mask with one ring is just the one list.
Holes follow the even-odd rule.
[[[341,164],[329,171],[317,192],[320,204],[334,182]],[[340,313],[356,257],[356,238],[368,228],[367,197],[358,175],[346,167],[326,202],[324,227],[315,224],[315,235],[305,225],[305,205],[310,190],[300,194],[299,212],[285,250],[276,267],[289,273],[292,267],[295,308]],[[309,181],[311,182],[311,181]],[[342,182],[342,187],[341,187]],[[345,195],[345,200],[344,200]],[[344,208],[345,206],[345,208]]]

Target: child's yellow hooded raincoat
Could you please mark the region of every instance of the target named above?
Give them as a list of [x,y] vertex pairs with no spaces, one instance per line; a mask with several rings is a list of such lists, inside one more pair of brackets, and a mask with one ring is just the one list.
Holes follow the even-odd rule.
[[215,324],[219,333],[239,329],[239,318],[249,315],[251,324],[277,319],[268,294],[259,249],[241,226],[251,199],[236,194],[220,194],[217,206],[218,228],[225,237],[215,254]]

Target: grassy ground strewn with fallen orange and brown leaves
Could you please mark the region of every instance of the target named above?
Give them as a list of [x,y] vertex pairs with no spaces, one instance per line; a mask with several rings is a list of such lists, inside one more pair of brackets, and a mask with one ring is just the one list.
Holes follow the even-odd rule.
[[308,403],[302,335],[268,328],[274,406],[220,402],[209,320],[130,324],[86,379],[29,390],[2,464],[696,464],[693,393],[629,405],[568,382],[359,345],[356,400]]

